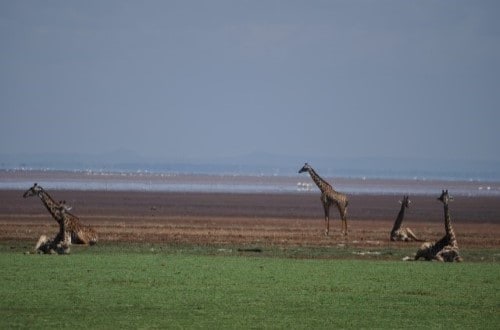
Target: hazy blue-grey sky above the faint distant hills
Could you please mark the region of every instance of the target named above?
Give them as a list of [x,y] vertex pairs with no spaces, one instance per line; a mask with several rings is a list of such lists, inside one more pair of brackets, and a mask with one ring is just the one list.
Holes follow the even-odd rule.
[[0,153],[500,160],[500,1],[0,1]]

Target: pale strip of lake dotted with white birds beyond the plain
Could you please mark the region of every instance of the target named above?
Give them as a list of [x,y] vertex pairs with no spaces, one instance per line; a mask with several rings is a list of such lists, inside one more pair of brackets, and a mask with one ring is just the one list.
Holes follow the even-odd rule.
[[[456,196],[500,197],[500,182],[325,177],[351,195],[434,195],[448,189]],[[0,189],[22,190],[34,182],[46,189],[83,191],[152,191],[209,193],[315,193],[307,175],[258,176],[182,173],[0,170]]]

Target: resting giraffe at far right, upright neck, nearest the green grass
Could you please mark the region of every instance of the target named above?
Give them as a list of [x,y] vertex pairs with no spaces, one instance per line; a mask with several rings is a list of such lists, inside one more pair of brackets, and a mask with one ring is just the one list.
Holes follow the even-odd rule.
[[451,216],[448,208],[448,203],[453,201],[453,197],[448,195],[448,190],[443,190],[438,200],[443,203],[444,207],[444,228],[446,234],[435,243],[426,242],[422,244],[415,255],[415,260],[424,258],[425,260],[434,259],[446,262],[460,262],[463,259],[459,253],[455,231],[451,226]]

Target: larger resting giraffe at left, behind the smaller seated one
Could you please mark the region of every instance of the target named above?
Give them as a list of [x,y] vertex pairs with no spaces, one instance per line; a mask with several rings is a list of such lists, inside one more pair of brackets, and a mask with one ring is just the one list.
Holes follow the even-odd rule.
[[69,244],[93,245],[97,243],[96,231],[90,226],[83,226],[75,215],[69,213],[69,208],[66,206],[65,202],[58,203],[54,201],[54,199],[37,183],[23,194],[24,198],[32,196],[40,197],[49,213],[59,224],[59,233],[56,237],[50,240],[47,236],[42,235],[38,240],[35,250],[41,250],[47,253],[43,249],[39,249],[39,247],[42,246],[46,247],[50,252],[53,246],[57,246],[60,242],[64,241],[65,232],[69,233]]

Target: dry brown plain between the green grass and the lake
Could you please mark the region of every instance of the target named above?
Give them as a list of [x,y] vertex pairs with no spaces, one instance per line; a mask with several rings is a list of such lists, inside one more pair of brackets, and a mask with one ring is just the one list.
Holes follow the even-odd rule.
[[[55,235],[57,224],[39,198],[22,191],[0,191],[0,242],[33,244]],[[332,209],[330,236],[323,235],[319,194],[230,194],[112,191],[51,191],[64,199],[84,224],[99,232],[101,243],[151,242],[241,247],[407,248],[389,232],[399,211],[398,196],[349,196],[349,235],[340,235]],[[437,196],[436,196],[437,197]],[[426,240],[444,233],[443,207],[432,196],[414,196],[403,225]],[[452,219],[461,249],[500,248],[500,198],[455,196]]]

